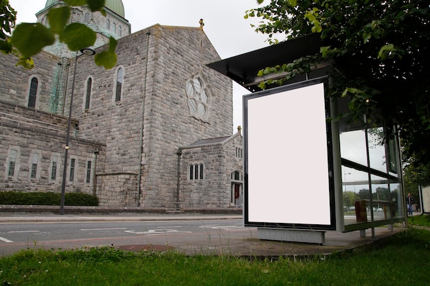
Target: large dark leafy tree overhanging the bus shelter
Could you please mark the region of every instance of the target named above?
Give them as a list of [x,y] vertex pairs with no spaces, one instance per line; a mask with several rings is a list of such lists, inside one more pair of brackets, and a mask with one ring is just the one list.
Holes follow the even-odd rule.
[[[258,0],[262,3],[262,0]],[[319,33],[320,52],[292,63],[280,62],[260,75],[295,73],[335,60],[345,77],[336,77],[328,95],[350,97],[351,119],[363,114],[375,123],[399,126],[403,154],[410,163],[430,162],[430,7],[428,0],[271,0],[247,11],[262,19],[257,32],[270,43]]]

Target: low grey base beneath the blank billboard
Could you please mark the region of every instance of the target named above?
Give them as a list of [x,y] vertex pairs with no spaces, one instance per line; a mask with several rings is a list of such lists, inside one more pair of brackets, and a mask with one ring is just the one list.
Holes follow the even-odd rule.
[[263,240],[324,244],[326,232],[322,230],[293,230],[282,228],[257,228],[258,238]]

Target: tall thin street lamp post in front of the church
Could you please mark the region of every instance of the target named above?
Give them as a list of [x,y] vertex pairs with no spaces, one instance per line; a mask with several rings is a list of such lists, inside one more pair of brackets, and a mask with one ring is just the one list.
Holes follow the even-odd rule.
[[[81,49],[82,55],[92,56],[95,51],[90,48]],[[61,200],[60,200],[60,215],[64,215],[64,201],[66,193],[66,174],[67,174],[67,156],[69,155],[69,140],[70,140],[70,125],[71,125],[71,108],[73,105],[73,93],[75,91],[75,78],[76,78],[76,66],[78,65],[78,54],[75,57],[75,68],[73,70],[73,80],[71,81],[71,95],[70,95],[70,106],[69,106],[69,119],[67,121],[67,132],[66,132],[66,147],[64,152],[64,169],[63,169],[63,183],[61,184]]]

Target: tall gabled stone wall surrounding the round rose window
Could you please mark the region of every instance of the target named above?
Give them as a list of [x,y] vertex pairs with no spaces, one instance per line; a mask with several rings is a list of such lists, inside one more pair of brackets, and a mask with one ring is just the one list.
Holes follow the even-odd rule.
[[[156,25],[150,29],[148,86],[145,99],[142,204],[176,206],[177,150],[194,141],[231,134],[231,80],[205,64],[219,60],[199,28]],[[190,113],[186,82],[201,75],[212,94],[207,122]]]

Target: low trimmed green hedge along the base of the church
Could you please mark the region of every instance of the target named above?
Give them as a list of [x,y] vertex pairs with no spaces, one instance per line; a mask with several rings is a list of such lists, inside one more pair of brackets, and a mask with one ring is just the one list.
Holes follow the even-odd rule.
[[[59,206],[60,193],[0,191],[0,204]],[[87,193],[65,193],[66,206],[98,206],[98,198]]]

